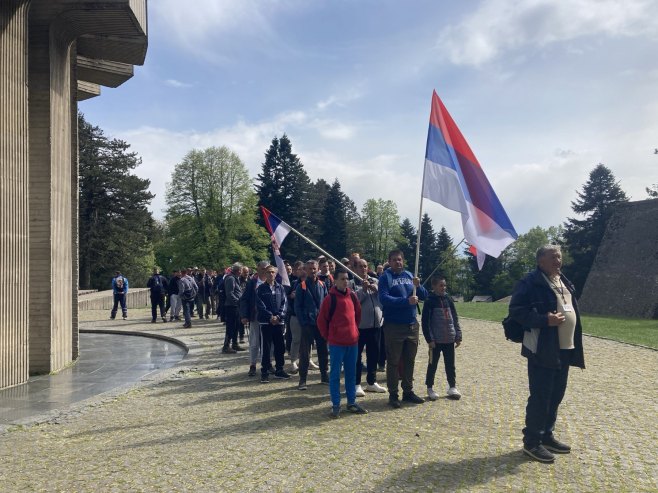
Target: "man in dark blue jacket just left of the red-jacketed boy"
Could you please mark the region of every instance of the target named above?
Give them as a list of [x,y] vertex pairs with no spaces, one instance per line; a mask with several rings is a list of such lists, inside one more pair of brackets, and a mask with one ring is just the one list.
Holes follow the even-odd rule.
[[307,260],[304,265],[306,279],[295,289],[295,314],[302,326],[302,337],[299,344],[299,390],[306,390],[306,377],[311,355],[311,344],[315,341],[320,365],[320,382],[329,385],[329,353],[327,341],[322,338],[318,329],[317,318],[320,305],[327,296],[327,287],[318,279],[318,263]]

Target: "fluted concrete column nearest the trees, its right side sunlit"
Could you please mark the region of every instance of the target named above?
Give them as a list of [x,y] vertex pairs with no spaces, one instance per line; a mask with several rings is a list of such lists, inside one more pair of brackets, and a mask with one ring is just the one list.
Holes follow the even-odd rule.
[[30,372],[73,359],[71,40],[30,16]]

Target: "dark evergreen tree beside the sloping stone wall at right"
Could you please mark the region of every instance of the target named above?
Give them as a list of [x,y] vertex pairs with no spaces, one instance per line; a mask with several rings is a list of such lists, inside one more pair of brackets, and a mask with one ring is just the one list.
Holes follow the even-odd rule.
[[615,205],[627,202],[628,197],[615,180],[612,171],[603,164],[599,164],[590,172],[587,183],[577,193],[578,198],[571,202],[571,208],[585,218],[569,218],[564,224],[564,240],[572,259],[570,265],[564,266],[564,272],[574,283],[576,293],[580,296],[603,239],[608,219]]

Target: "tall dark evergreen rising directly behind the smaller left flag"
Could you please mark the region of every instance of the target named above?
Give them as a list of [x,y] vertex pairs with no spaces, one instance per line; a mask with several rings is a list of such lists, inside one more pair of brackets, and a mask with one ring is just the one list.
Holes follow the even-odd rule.
[[[308,235],[310,225],[317,219],[309,215],[311,181],[302,162],[293,154],[292,143],[286,134],[280,139],[272,139],[257,179],[259,205]],[[259,217],[259,221],[263,224],[262,218]],[[289,235],[281,253],[288,258],[304,259],[311,252],[310,248],[297,235]]]

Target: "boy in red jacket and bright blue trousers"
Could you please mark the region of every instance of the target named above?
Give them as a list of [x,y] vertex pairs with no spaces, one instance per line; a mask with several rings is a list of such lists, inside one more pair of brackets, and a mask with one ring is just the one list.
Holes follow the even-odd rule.
[[366,414],[356,403],[356,357],[359,344],[359,322],[361,304],[348,287],[345,270],[336,270],[334,286],[320,306],[318,329],[329,344],[331,368],[329,370],[329,393],[331,394],[331,417],[340,416],[340,370],[345,370],[345,393],[347,410]]

